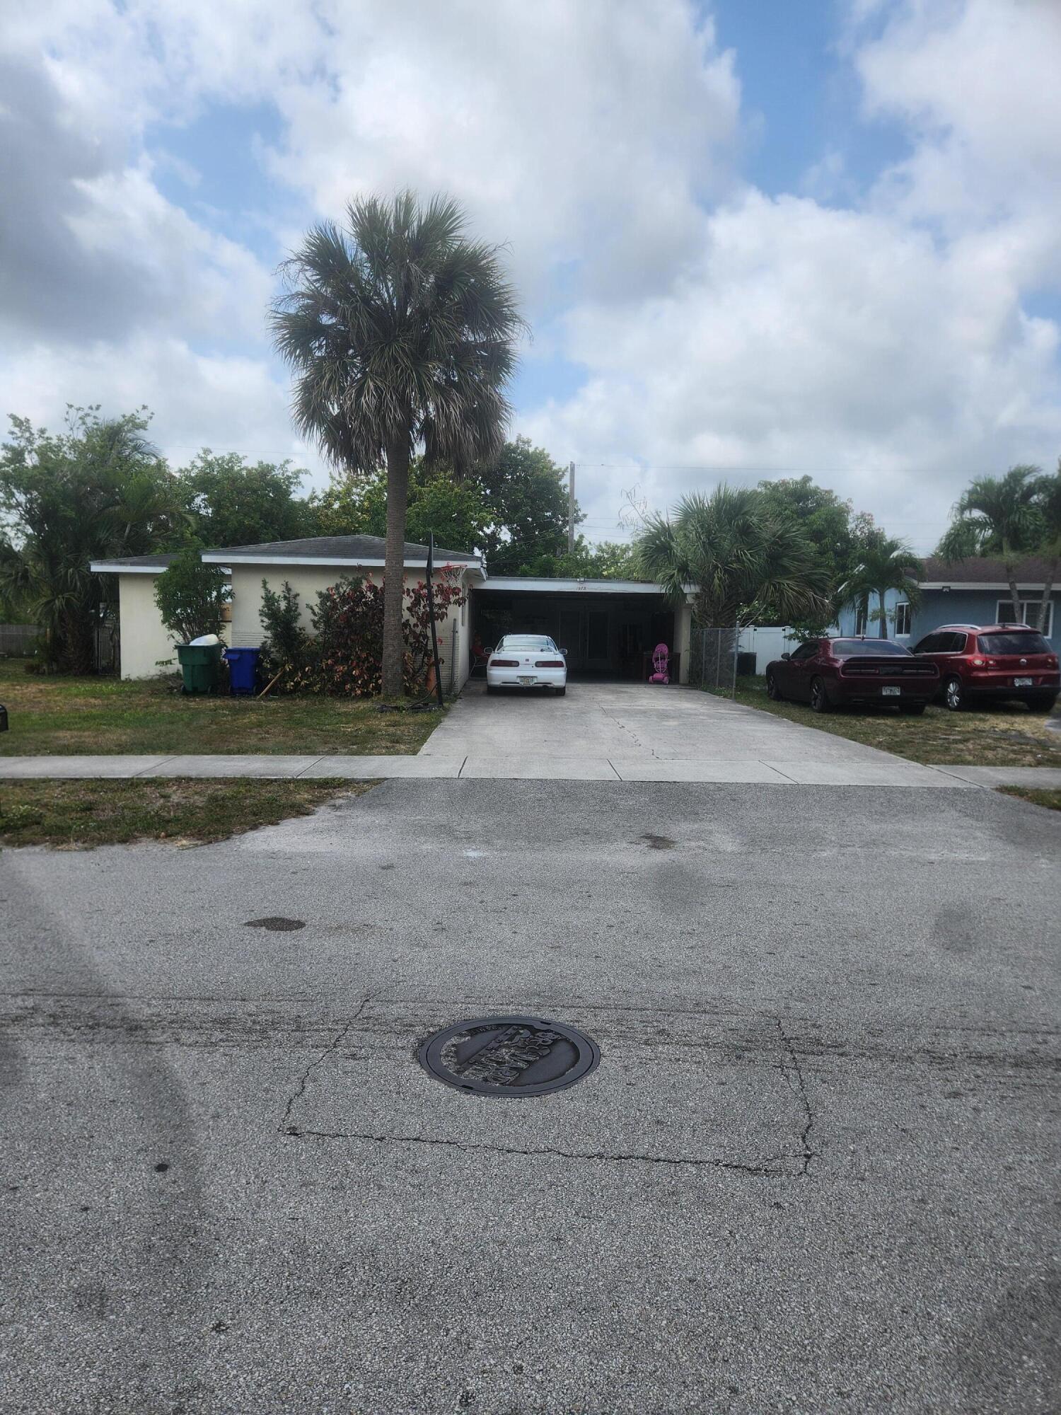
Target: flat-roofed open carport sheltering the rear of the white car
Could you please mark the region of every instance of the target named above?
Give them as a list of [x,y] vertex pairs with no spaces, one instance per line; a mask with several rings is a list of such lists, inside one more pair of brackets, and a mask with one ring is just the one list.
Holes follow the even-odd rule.
[[508,633],[550,634],[576,679],[637,682],[656,644],[679,655],[680,682],[689,674],[689,604],[675,610],[639,580],[487,577],[471,590],[471,625],[485,648]]

